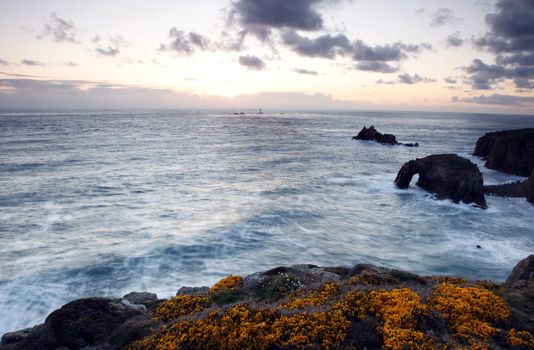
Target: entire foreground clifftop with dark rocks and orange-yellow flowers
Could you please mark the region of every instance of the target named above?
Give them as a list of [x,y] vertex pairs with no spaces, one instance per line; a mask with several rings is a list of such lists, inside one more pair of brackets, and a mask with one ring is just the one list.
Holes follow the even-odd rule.
[[7,333],[15,349],[532,349],[534,255],[506,283],[296,265],[211,288],[86,298]]

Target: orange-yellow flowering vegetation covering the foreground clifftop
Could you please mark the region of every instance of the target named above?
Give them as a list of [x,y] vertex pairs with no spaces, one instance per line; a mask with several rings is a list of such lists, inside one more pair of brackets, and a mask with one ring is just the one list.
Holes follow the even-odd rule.
[[[229,276],[205,296],[164,302],[152,314],[165,323],[130,349],[534,348],[530,332],[512,327],[504,289],[494,283],[363,268],[311,283],[301,274],[296,287],[288,275],[298,276],[278,271],[248,284]],[[255,287],[273,280],[288,285],[258,297]],[[217,303],[229,290],[242,299]]]

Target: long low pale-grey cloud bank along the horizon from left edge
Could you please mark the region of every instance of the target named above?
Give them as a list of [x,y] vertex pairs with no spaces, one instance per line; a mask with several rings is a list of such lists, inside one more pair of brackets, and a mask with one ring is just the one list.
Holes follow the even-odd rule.
[[200,96],[164,88],[127,86],[84,80],[0,79],[3,108],[355,108],[353,101],[325,94],[264,92],[234,98]]

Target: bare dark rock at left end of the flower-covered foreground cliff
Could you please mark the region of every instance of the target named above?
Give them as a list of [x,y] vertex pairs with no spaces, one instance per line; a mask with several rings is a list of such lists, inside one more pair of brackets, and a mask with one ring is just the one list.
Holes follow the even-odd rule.
[[[154,305],[154,296],[130,293],[126,297]],[[52,312],[42,325],[5,334],[0,348],[122,348],[146,336],[152,327],[144,304],[133,304],[128,299],[85,298]]]

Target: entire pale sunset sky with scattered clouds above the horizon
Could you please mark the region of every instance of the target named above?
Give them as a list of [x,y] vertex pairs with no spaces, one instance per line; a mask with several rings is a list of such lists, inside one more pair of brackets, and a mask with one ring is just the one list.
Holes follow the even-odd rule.
[[534,113],[534,0],[0,0],[0,108]]

